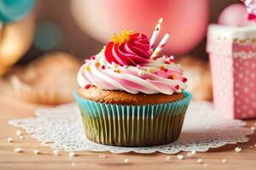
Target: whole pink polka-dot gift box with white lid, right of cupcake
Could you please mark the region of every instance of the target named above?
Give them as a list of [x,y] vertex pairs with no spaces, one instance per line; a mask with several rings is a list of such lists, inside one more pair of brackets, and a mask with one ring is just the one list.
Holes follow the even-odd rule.
[[256,117],[256,26],[210,25],[207,53],[218,114]]

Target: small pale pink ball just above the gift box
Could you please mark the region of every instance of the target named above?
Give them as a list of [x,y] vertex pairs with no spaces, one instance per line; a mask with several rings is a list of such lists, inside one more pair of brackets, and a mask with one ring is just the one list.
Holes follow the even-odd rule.
[[236,3],[224,8],[224,11],[218,16],[218,24],[225,26],[247,26],[250,21],[247,20],[247,8],[244,4]]

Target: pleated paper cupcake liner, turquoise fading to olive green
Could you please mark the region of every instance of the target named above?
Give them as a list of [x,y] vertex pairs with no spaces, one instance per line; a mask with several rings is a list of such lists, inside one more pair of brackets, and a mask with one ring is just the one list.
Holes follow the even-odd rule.
[[149,146],[175,141],[182,129],[191,94],[156,105],[112,105],[84,99],[74,92],[86,137],[96,143]]

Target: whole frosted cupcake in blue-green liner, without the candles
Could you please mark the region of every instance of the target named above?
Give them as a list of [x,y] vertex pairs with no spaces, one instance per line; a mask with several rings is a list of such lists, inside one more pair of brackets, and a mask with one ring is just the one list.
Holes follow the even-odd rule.
[[79,105],[87,139],[116,146],[177,140],[191,95],[173,56],[153,55],[148,37],[122,31],[79,70]]

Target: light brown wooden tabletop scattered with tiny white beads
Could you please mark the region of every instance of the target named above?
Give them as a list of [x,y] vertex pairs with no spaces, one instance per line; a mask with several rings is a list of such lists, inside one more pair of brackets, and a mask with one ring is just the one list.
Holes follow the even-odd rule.
[[[129,153],[111,154],[109,152],[95,153],[90,151],[78,152],[78,156],[69,158],[67,152],[61,151],[60,156],[53,156],[53,150],[42,147],[36,139],[24,134],[25,139],[15,135],[17,130],[8,124],[9,119],[33,116],[33,111],[42,105],[32,105],[15,99],[8,83],[0,80],[0,170],[4,169],[256,169],[256,135],[249,136],[250,141],[242,144],[227,144],[218,149],[211,149],[205,153],[196,153],[193,157],[177,160],[177,155],[171,155],[166,161],[165,154],[154,153],[148,155]],[[255,120],[247,121],[251,127]],[[22,131],[24,133],[24,131]],[[11,137],[15,141],[8,143]],[[236,153],[235,148],[241,147]],[[23,153],[15,153],[14,148],[20,147]],[[42,154],[34,155],[33,150]],[[106,156],[102,158],[101,155]],[[124,159],[129,159],[124,163]],[[201,158],[202,163],[196,162]],[[226,159],[226,163],[222,160]]]

